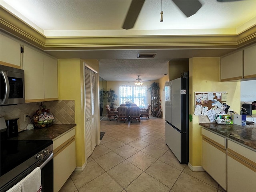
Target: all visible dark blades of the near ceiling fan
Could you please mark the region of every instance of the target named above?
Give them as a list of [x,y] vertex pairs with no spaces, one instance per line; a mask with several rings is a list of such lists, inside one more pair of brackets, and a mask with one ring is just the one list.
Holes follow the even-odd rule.
[[[199,0],[172,0],[176,6],[187,16],[190,17],[194,15],[201,7],[202,4]],[[218,2],[231,2],[238,0],[217,0]],[[132,0],[130,4],[130,8],[127,12],[126,18],[124,20],[124,24],[122,26],[123,29],[131,29],[133,28],[138,15],[140,14],[140,10],[144,4],[145,0]]]

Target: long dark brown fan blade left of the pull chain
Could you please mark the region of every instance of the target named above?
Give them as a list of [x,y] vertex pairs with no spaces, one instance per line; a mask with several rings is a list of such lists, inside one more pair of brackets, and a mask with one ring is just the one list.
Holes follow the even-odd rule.
[[145,0],[132,0],[132,3],[124,20],[124,24],[122,26],[123,29],[133,28],[144,2]]

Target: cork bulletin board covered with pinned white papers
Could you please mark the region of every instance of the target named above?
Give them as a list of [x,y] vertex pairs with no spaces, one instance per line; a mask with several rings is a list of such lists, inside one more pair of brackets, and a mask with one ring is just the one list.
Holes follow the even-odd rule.
[[227,92],[195,92],[195,115],[208,116],[214,122],[215,114],[226,114]]

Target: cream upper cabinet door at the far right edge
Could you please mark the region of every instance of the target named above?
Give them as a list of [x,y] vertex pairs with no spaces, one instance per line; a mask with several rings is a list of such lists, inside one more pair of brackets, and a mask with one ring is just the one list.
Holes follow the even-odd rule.
[[244,78],[256,78],[256,45],[244,49]]

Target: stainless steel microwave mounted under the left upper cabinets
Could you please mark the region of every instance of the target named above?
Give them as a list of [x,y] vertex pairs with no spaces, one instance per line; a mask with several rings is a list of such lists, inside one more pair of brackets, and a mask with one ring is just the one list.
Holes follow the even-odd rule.
[[25,103],[24,70],[0,65],[0,105]]

